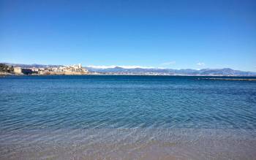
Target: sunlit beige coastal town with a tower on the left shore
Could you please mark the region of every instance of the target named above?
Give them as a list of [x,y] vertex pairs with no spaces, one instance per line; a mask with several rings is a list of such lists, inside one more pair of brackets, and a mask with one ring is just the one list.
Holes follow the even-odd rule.
[[81,64],[72,66],[30,67],[0,64],[0,75],[87,75],[89,71]]

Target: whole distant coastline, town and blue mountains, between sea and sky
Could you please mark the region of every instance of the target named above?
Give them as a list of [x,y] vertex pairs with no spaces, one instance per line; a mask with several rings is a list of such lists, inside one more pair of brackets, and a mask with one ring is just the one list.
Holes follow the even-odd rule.
[[82,66],[42,64],[1,64],[0,75],[187,75],[256,76],[256,72],[223,69],[165,69],[142,66]]

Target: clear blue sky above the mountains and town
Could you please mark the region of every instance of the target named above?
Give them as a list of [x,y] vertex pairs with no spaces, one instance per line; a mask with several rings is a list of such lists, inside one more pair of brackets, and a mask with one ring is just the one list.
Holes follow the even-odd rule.
[[256,71],[256,1],[0,0],[0,61]]

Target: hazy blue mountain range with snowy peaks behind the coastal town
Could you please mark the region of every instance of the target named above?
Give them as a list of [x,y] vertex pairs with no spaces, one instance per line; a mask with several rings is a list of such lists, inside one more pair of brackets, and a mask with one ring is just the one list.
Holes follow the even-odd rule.
[[[43,64],[9,64],[10,66],[20,66],[23,68],[31,67],[58,67],[63,65],[43,65]],[[224,69],[162,69],[153,67],[125,67],[125,66],[111,66],[111,67],[99,67],[99,66],[84,66],[90,72],[98,72],[102,74],[114,74],[114,75],[210,75],[210,76],[256,76],[256,72],[244,72],[234,70],[230,68]]]

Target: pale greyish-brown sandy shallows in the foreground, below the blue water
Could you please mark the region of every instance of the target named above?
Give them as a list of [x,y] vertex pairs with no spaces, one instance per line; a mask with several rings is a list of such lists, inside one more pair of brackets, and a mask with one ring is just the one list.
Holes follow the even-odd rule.
[[255,159],[254,132],[78,129],[0,136],[0,159]]

